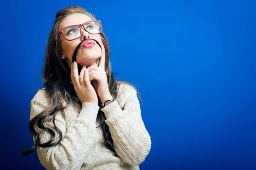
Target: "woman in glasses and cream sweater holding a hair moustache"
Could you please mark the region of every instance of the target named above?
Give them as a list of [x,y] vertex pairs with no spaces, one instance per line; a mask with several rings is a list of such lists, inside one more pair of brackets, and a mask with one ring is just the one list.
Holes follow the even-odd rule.
[[43,83],[31,101],[35,145],[23,155],[37,150],[47,170],[140,169],[151,138],[137,90],[113,78],[101,22],[84,8],[69,6],[56,14]]

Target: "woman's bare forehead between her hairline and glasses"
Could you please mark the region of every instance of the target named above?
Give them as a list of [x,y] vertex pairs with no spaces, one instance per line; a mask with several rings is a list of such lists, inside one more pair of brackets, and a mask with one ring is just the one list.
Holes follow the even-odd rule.
[[86,14],[80,14],[80,13],[70,14],[67,17],[65,17],[65,19],[60,23],[59,29],[61,30],[62,28],[65,28],[67,26],[82,24],[90,20],[93,20],[93,19]]

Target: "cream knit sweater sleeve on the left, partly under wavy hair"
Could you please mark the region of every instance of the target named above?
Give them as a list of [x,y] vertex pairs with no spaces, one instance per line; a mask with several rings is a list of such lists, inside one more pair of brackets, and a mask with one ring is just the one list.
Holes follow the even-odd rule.
[[[30,119],[41,113],[46,107],[47,100],[45,98],[34,97],[31,101]],[[56,113],[55,125],[61,130],[63,136],[61,142],[55,146],[37,148],[38,158],[47,170],[80,170],[92,147],[93,137],[96,135],[95,122],[98,111],[98,105],[84,102],[79,116],[70,125],[66,124],[60,111]],[[52,123],[52,117],[50,116],[49,119],[44,120],[44,126],[55,132],[54,142],[56,142],[59,135]],[[37,123],[35,124],[35,130],[39,133],[41,143],[48,142],[51,138],[51,134],[40,129]],[[34,137],[33,140],[35,142]]]

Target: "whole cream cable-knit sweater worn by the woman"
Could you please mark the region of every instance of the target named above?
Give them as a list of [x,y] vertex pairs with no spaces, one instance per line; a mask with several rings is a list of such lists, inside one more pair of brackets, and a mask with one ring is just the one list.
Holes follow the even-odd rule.
[[[31,101],[30,119],[48,105],[49,98],[43,89]],[[71,102],[55,117],[55,124],[63,134],[61,142],[53,147],[37,149],[38,158],[47,170],[140,169],[138,165],[145,160],[151,149],[151,137],[141,117],[137,92],[125,84],[120,84],[118,90],[116,100],[101,108],[105,113],[105,122],[111,132],[117,155],[104,145],[103,131],[96,120],[99,106],[84,102],[80,107],[77,102]],[[122,111],[120,107],[125,103],[127,104]],[[59,135],[53,128],[52,119],[53,116],[49,116],[44,120],[44,125],[55,132],[56,142]],[[39,133],[41,143],[51,138],[50,133],[39,129],[37,124],[35,130]],[[33,140],[35,142],[34,137]]]

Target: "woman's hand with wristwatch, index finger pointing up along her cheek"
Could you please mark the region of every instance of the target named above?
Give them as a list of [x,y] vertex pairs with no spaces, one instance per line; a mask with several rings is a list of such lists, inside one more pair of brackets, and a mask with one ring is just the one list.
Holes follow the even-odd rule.
[[108,79],[105,72],[105,49],[102,48],[102,57],[99,61],[99,67],[96,63],[87,68],[89,72],[89,80],[93,85],[99,98],[103,101],[106,96],[111,96],[108,88]]

